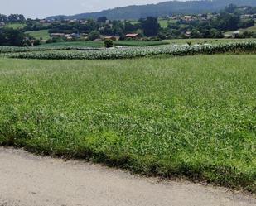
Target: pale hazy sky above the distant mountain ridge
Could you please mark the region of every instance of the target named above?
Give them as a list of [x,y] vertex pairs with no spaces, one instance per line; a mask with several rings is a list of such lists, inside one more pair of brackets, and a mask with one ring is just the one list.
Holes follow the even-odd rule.
[[21,13],[25,17],[44,18],[165,1],[167,0],[0,0],[0,13]]

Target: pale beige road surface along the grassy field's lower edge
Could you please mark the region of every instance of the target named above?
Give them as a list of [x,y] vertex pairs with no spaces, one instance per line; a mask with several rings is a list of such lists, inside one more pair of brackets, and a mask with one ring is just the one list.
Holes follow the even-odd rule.
[[255,206],[227,189],[129,175],[0,147],[0,206]]

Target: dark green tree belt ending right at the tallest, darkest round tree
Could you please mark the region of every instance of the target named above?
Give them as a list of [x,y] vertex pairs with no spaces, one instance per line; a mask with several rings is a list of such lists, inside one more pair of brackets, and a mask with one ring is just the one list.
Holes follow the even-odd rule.
[[106,17],[99,17],[96,21],[88,19],[81,22],[52,22],[51,24],[41,24],[39,20],[27,20],[27,26],[22,31],[49,30],[50,33],[87,33],[89,39],[96,39],[99,35],[121,36],[127,33],[137,32],[144,36],[157,36],[161,26],[157,22],[157,17],[147,17],[140,19],[138,23],[132,24],[129,21],[108,21]]

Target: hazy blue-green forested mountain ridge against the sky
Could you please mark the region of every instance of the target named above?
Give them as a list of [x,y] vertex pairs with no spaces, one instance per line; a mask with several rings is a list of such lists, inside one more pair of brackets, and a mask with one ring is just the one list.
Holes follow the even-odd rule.
[[139,19],[143,17],[161,17],[175,14],[196,14],[203,12],[218,12],[229,4],[237,6],[256,7],[256,0],[201,0],[201,1],[169,1],[157,4],[147,4],[142,6],[116,7],[114,9],[104,10],[102,12],[81,13],[73,16],[53,16],[47,19],[85,19],[108,17],[111,20],[120,19]]

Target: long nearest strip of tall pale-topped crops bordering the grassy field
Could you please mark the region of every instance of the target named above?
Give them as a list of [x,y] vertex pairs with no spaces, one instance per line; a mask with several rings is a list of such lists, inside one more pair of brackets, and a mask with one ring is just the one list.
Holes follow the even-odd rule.
[[[43,49],[44,50],[44,49]],[[127,59],[151,55],[200,55],[226,52],[255,52],[256,41],[229,43],[223,45],[197,46],[151,46],[105,50],[50,50],[7,54],[10,58],[42,60],[107,60]]]

